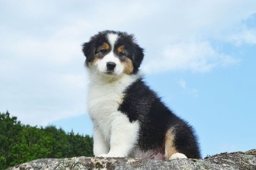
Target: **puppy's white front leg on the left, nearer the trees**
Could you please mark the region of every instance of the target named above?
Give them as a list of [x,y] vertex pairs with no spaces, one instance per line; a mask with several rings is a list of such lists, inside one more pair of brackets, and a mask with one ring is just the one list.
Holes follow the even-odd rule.
[[99,127],[93,128],[93,153],[95,157],[109,152],[109,145],[106,143]]

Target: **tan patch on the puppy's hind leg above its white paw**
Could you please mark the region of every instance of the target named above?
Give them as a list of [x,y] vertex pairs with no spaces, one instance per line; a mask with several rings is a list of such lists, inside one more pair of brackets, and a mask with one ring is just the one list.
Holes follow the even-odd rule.
[[173,133],[173,128],[170,128],[165,135],[165,151],[164,151],[164,157],[166,160],[169,160],[169,158],[178,151],[176,150],[174,146],[174,139],[175,135]]

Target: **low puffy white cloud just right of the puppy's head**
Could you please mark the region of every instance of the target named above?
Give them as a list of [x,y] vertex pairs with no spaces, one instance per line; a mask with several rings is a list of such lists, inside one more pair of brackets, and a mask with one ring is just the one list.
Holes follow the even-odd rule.
[[145,72],[189,70],[209,72],[218,66],[228,66],[239,60],[214,50],[209,42],[175,43],[169,45],[161,58],[155,58],[143,66]]

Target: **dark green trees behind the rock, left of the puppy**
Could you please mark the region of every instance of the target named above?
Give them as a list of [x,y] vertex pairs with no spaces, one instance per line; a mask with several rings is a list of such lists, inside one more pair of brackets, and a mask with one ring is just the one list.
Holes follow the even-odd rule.
[[66,133],[54,126],[22,125],[8,111],[0,112],[0,169],[38,158],[93,157],[89,135]]

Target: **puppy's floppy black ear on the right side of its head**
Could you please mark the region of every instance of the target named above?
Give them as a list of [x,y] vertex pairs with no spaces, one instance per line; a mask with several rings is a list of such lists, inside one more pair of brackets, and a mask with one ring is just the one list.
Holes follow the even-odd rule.
[[140,67],[141,61],[144,58],[144,49],[142,49],[138,44],[133,43],[132,45],[132,61],[134,64],[134,73],[138,72],[138,68]]

